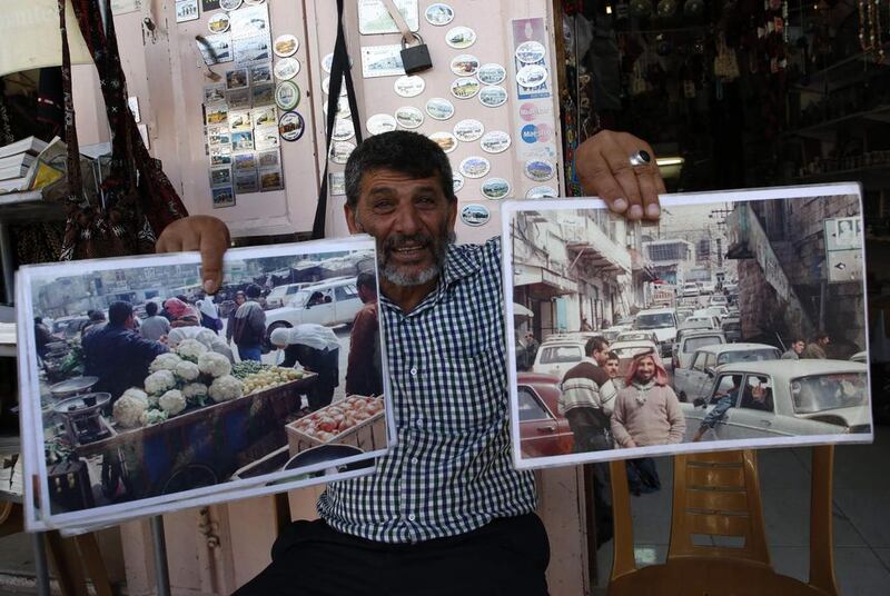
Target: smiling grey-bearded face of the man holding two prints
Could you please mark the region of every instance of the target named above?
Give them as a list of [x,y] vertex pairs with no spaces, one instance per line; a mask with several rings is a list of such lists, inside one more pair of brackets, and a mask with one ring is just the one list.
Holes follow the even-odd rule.
[[356,209],[345,207],[352,234],[377,241],[377,259],[386,281],[422,286],[442,271],[457,217],[437,176],[412,178],[388,169],[362,175]]

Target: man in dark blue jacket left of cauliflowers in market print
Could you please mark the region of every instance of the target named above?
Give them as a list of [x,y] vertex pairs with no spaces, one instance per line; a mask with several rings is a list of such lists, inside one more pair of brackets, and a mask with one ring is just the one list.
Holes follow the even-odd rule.
[[83,375],[99,377],[93,390],[108,391],[112,401],[130,387],[141,387],[148,365],[167,351],[167,346],[145,339],[134,327],[132,306],[111,302],[108,325],[83,337]]

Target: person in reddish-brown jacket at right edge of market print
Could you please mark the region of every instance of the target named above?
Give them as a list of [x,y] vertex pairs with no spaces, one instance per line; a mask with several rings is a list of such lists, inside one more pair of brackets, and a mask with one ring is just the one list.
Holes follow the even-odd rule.
[[377,278],[362,272],[355,281],[364,306],[353,320],[346,360],[346,395],[383,395],[380,330],[377,319]]

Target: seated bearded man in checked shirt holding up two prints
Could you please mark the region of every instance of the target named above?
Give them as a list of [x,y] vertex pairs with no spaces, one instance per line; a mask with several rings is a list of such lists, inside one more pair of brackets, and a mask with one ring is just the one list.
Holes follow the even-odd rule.
[[[377,135],[353,152],[345,208],[349,230],[377,240],[399,443],[376,475],[328,485],[325,522],[289,526],[241,595],[546,594],[533,476],[510,455],[500,242],[449,244],[457,205],[447,157],[424,138],[392,147],[406,135]],[[664,185],[654,166],[629,167],[641,147],[650,151],[604,131],[576,161],[585,188],[613,210],[654,219]],[[195,217],[168,226],[158,249],[200,249],[212,292],[226,242],[218,220]]]

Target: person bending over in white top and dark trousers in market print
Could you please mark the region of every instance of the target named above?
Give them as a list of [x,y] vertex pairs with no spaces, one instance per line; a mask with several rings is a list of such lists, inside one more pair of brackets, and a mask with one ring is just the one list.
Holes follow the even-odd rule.
[[269,340],[285,350],[283,367],[299,362],[306,370],[318,374],[307,395],[309,409],[317,410],[330,404],[334,389],[340,384],[340,342],[334,331],[324,325],[307,322],[289,329],[279,327],[273,330]]

